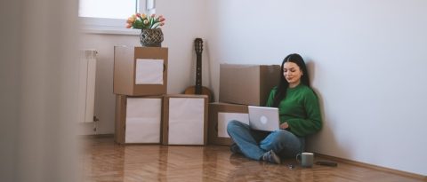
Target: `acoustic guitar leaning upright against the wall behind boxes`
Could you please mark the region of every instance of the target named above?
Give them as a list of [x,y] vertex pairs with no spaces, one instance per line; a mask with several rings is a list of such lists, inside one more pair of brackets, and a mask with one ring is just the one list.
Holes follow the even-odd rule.
[[202,86],[202,51],[203,51],[203,40],[196,38],[194,40],[194,49],[196,51],[196,85],[190,86],[184,91],[184,94],[197,94],[207,95],[209,101],[213,101],[212,91],[205,86]]

